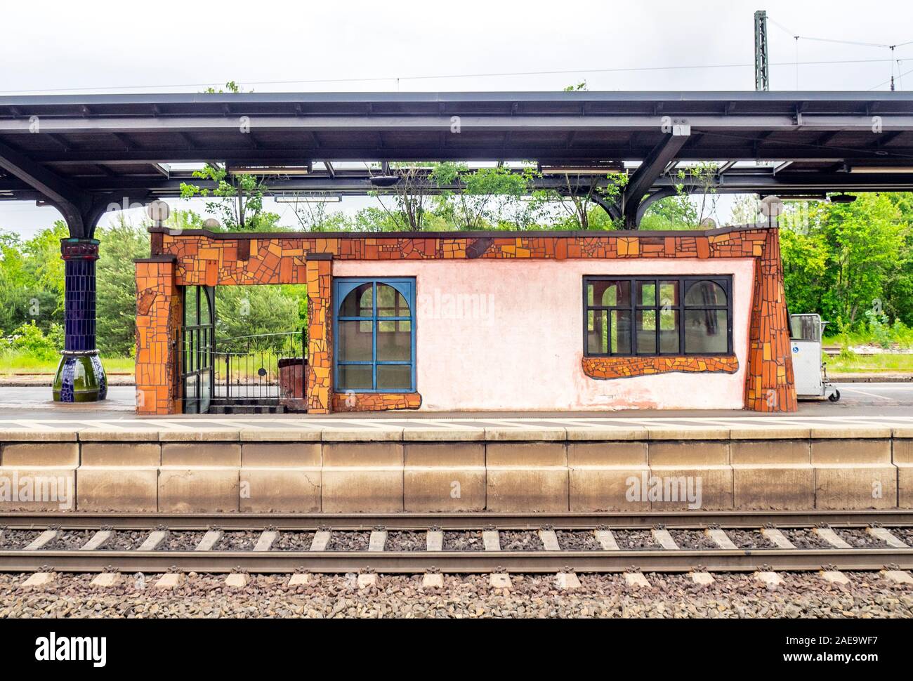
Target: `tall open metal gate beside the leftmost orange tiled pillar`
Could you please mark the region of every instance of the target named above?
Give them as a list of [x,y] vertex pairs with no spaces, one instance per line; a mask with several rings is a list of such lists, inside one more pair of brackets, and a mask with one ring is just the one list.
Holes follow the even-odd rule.
[[176,342],[182,411],[206,414],[215,379],[215,288],[184,288],[184,325]]

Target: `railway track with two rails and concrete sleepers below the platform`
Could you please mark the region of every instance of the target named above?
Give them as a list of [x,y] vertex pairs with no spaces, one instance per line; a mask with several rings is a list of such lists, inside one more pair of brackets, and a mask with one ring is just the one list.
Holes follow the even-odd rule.
[[913,568],[913,511],[0,516],[0,571],[630,572]]

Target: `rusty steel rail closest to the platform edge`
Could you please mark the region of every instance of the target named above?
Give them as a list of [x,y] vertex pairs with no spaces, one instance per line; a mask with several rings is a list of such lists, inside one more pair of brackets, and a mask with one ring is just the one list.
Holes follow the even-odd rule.
[[605,525],[611,529],[650,529],[666,525],[678,529],[703,529],[708,525],[722,528],[761,528],[772,524],[782,527],[813,527],[826,523],[842,527],[866,527],[872,523],[913,526],[913,509],[803,510],[803,511],[650,511],[606,513],[82,513],[59,511],[47,513],[0,514],[0,528],[37,529],[57,526],[60,529],[593,529]]

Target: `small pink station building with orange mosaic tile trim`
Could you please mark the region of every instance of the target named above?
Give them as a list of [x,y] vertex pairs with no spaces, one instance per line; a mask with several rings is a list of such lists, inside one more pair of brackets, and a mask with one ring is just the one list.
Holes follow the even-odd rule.
[[[308,287],[309,414],[796,409],[775,228],[391,236],[159,228],[152,257],[137,263],[139,413],[180,413],[182,395],[212,385],[205,331],[184,346],[196,355],[189,362],[173,342],[184,299],[205,304],[217,286],[266,284]],[[187,375],[179,361],[199,371]]]

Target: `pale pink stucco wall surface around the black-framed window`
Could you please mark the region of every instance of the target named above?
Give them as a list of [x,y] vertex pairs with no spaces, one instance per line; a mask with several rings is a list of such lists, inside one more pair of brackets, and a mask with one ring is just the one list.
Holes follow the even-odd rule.
[[[582,372],[584,275],[730,274],[739,371],[600,381]],[[415,277],[422,409],[741,409],[754,261],[434,260],[333,263],[335,277]]]

